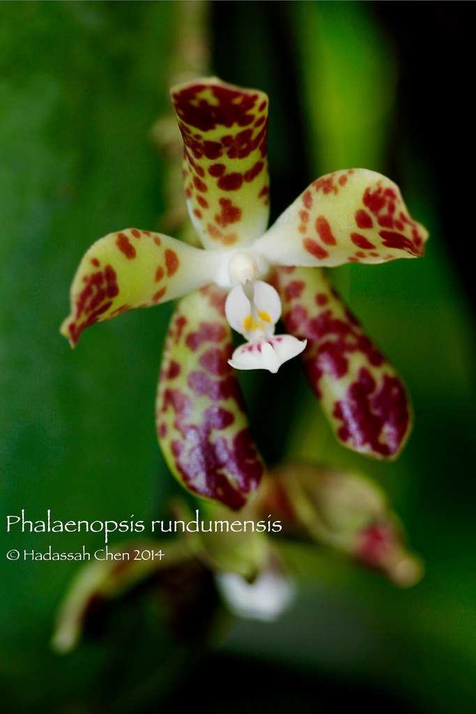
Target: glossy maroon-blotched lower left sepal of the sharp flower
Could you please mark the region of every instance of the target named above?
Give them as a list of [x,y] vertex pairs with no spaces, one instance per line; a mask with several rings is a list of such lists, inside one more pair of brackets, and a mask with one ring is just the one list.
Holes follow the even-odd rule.
[[158,439],[169,468],[195,496],[237,511],[264,467],[245,415],[226,321],[226,293],[207,286],[183,298],[166,336],[158,385]]

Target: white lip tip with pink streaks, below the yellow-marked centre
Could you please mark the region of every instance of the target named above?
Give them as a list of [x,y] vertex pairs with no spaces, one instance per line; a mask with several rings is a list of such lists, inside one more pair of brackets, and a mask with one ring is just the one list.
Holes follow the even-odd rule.
[[298,356],[306,346],[305,340],[291,335],[276,335],[267,340],[238,347],[228,360],[235,369],[268,369],[276,373],[280,366]]

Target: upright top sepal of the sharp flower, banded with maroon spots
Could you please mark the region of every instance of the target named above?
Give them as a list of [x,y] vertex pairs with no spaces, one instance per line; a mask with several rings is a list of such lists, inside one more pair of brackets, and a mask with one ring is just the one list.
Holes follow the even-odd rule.
[[268,225],[268,96],[216,77],[171,95],[188,211],[203,246],[249,245]]

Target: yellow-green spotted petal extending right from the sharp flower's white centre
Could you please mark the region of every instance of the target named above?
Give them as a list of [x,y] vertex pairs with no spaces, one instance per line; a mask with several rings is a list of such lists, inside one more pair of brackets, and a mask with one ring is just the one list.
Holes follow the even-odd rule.
[[311,183],[253,250],[283,266],[383,263],[422,256],[427,237],[393,181],[348,169]]

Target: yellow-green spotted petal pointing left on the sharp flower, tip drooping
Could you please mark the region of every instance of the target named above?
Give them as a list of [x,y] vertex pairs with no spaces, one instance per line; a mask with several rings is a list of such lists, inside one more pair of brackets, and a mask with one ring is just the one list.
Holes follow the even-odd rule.
[[75,347],[84,328],[132,308],[150,307],[206,285],[217,256],[161,233],[126,228],[93,243],[71,285],[61,334]]

